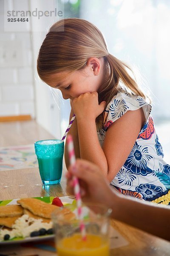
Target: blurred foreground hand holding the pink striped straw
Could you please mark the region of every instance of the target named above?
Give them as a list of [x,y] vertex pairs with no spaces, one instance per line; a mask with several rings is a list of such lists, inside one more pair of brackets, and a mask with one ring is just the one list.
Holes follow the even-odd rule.
[[66,177],[67,191],[74,195],[73,176],[79,179],[82,201],[113,204],[116,198],[112,192],[108,181],[101,174],[99,167],[86,160],[76,160],[75,166],[69,166]]

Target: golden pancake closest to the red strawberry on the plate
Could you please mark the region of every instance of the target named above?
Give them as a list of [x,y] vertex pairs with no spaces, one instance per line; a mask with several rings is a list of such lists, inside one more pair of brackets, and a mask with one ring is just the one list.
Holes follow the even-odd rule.
[[51,218],[51,212],[55,210],[60,210],[60,207],[47,204],[36,198],[23,198],[17,201],[18,204],[21,204],[23,208],[28,209],[34,215],[42,218]]

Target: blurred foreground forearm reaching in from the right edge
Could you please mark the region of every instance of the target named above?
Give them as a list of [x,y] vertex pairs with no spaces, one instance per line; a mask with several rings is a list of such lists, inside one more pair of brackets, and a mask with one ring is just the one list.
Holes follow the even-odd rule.
[[110,201],[113,218],[170,241],[170,207],[124,196],[113,190],[112,196],[115,195],[116,205],[113,199]]

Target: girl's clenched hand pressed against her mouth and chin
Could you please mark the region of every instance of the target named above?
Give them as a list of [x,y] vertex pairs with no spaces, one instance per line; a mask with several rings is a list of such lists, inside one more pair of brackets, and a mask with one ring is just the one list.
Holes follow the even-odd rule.
[[96,117],[104,111],[105,105],[105,101],[99,104],[97,92],[81,94],[72,103],[77,120],[87,118],[88,120],[96,120]]

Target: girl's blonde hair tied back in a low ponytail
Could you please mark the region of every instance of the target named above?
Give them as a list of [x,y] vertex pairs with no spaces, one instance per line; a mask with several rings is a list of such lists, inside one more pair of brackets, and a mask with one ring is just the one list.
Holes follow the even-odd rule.
[[[99,29],[79,18],[59,20],[51,26],[40,47],[37,72],[47,82],[54,73],[82,70],[91,57],[104,58],[103,81],[98,90],[99,103],[106,101],[108,105],[119,90],[147,98],[129,75],[127,70],[132,72],[130,67],[108,53]],[[102,114],[96,118],[96,125],[97,128],[102,127]]]

